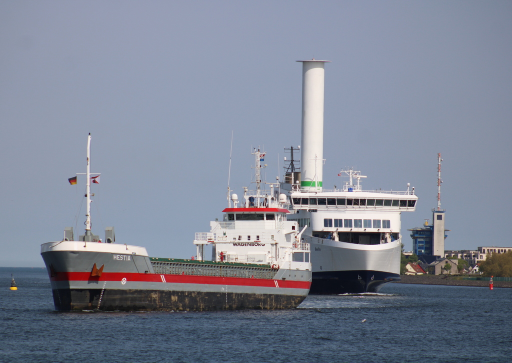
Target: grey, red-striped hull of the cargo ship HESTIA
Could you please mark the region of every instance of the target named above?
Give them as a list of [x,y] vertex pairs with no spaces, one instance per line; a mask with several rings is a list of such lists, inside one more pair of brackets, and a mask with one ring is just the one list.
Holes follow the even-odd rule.
[[[41,255],[50,276],[55,309],[291,309],[304,300],[311,285],[311,271],[252,267],[255,272],[247,273],[251,267],[243,264],[157,262],[155,271],[152,259],[127,254],[130,251],[119,253],[122,251],[119,246],[125,247],[100,243],[84,246],[83,242],[42,245]],[[131,246],[126,249],[128,247]],[[113,250],[109,251],[110,248]],[[174,273],[165,273],[165,268],[169,271],[174,268]],[[208,275],[199,271],[208,271]],[[244,272],[246,274],[242,275]],[[258,273],[264,274],[264,278],[258,278]]]

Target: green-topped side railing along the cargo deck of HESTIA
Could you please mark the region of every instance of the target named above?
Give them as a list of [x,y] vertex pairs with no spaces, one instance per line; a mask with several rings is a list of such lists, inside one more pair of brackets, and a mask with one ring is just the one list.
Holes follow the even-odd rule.
[[151,262],[155,273],[168,275],[193,275],[215,277],[246,277],[253,279],[272,280],[277,272],[269,267],[232,266],[224,263],[182,263],[182,262]]

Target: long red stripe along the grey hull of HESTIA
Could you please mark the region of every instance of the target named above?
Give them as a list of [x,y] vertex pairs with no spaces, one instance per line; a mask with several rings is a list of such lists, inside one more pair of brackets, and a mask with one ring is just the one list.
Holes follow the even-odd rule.
[[57,272],[55,276],[50,277],[51,281],[127,281],[134,282],[162,282],[178,284],[205,284],[205,285],[232,285],[232,286],[262,286],[276,287],[276,282],[282,288],[309,289],[310,281],[293,280],[267,280],[267,279],[247,279],[243,277],[219,277],[219,276],[194,276],[194,275],[170,275],[156,273],[123,273],[123,272],[103,272],[101,277],[92,277],[90,272]]

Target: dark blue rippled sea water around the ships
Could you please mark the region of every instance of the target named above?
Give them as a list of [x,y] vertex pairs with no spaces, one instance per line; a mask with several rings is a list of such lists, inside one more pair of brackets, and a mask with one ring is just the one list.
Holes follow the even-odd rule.
[[511,305],[512,289],[389,284],[293,310],[55,312],[46,269],[0,268],[0,362],[506,362]]

